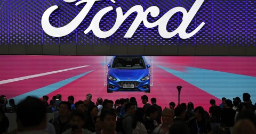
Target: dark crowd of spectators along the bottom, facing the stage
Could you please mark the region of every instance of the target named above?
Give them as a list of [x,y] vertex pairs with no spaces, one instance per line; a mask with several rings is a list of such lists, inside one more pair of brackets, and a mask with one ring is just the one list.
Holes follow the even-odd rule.
[[[194,108],[192,102],[169,108],[157,105],[157,99],[141,96],[143,107],[138,107],[137,99],[121,98],[114,101],[87,94],[84,101],[75,101],[69,96],[62,101],[60,94],[42,99],[28,96],[18,105],[9,99],[11,112],[17,115],[17,129],[7,131],[9,120],[5,116],[7,99],[0,96],[0,133],[256,133],[256,103],[253,105],[250,94],[239,97],[222,98],[220,105],[210,99],[209,111],[202,106]],[[47,121],[46,113],[54,113]]]

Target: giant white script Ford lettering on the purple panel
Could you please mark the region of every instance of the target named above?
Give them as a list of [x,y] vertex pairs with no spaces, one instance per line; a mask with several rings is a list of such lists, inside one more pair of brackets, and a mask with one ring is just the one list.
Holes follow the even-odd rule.
[[[63,0],[65,2],[71,3],[75,2],[76,0]],[[70,32],[74,31],[80,23],[84,20],[86,15],[89,13],[90,9],[92,8],[93,4],[97,1],[101,0],[82,0],[76,3],[76,6],[81,3],[86,3],[83,9],[77,14],[77,16],[69,22],[66,26],[63,27],[53,27],[50,22],[49,18],[51,13],[58,9],[57,5],[49,7],[47,9],[43,16],[42,16],[42,28],[46,32],[47,35],[52,37],[62,37],[70,34]],[[125,21],[125,19],[131,15],[134,12],[137,12],[137,16],[132,22],[130,28],[127,30],[124,38],[131,38],[134,34],[134,32],[139,27],[140,23],[143,22],[144,26],[147,28],[153,28],[158,26],[158,32],[159,35],[163,38],[172,38],[173,36],[179,34],[180,38],[187,39],[191,36],[194,36],[202,27],[204,26],[204,22],[199,24],[199,26],[194,29],[194,31],[191,31],[190,33],[186,32],[186,29],[189,26],[189,23],[192,21],[194,16],[196,15],[197,11],[203,4],[204,0],[197,0],[193,6],[191,6],[191,9],[187,12],[187,10],[183,7],[174,7],[173,9],[166,12],[160,19],[157,21],[150,23],[147,21],[147,16],[150,15],[155,18],[159,15],[159,8],[157,6],[151,6],[149,7],[145,12],[143,12],[143,7],[141,5],[135,5],[133,6],[129,11],[127,11],[125,14],[123,14],[123,10],[121,7],[117,7],[116,9],[116,22],[114,26],[109,29],[108,31],[102,31],[99,27],[100,20],[102,17],[108,13],[109,11],[113,10],[112,6],[108,6],[100,10],[95,16],[93,17],[90,26],[84,31],[84,34],[87,34],[92,30],[93,34],[99,38],[107,38],[113,35],[118,28],[121,26],[121,24]],[[172,32],[167,31],[167,23],[170,20],[170,18],[177,12],[181,12],[183,14],[182,22],[180,26],[175,29]]]

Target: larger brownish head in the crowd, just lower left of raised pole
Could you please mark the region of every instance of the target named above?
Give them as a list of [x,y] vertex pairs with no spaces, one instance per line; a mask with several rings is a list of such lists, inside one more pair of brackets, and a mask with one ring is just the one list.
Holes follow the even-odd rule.
[[163,124],[171,125],[173,123],[174,114],[170,108],[164,108],[162,112],[162,121]]

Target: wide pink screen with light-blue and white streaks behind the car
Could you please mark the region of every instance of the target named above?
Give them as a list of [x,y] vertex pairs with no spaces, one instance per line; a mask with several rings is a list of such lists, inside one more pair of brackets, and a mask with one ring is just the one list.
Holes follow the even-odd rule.
[[[114,92],[107,93],[107,64],[112,56],[0,56],[0,95],[14,98],[16,103],[26,96],[50,98],[61,94],[67,101],[69,95],[75,102],[92,94],[92,101],[98,97],[115,101],[120,98],[137,98],[142,106],[141,96],[157,99],[162,108],[170,102],[178,105],[177,86],[182,86],[180,103],[193,102],[210,107],[210,99],[217,105],[221,98],[242,99],[243,93],[256,101],[256,57],[220,56],[145,56],[151,65],[150,93]],[[150,101],[149,101],[150,102]]]

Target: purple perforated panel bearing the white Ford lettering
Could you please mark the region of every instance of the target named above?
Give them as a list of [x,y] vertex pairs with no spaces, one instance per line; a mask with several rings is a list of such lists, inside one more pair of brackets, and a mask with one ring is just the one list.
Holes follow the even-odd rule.
[[0,45],[255,45],[254,4],[2,0]]

